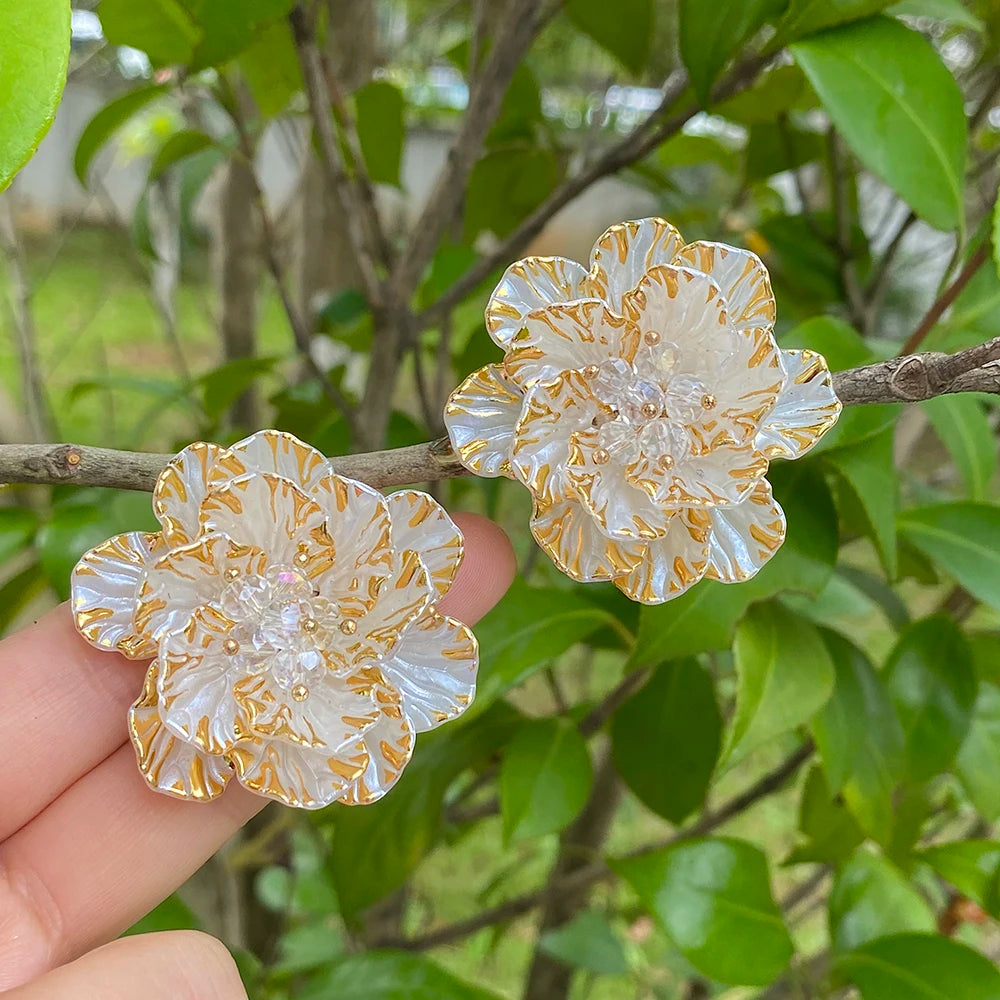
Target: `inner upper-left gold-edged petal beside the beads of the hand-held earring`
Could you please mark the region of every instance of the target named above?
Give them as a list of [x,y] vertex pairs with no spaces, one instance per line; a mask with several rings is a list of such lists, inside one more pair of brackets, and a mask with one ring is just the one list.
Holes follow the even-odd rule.
[[[218,602],[226,572],[262,574],[267,556],[261,549],[237,545],[216,532],[164,552],[146,570],[136,595],[136,628],[155,643],[184,627],[202,605]],[[152,653],[150,655],[153,655]]]

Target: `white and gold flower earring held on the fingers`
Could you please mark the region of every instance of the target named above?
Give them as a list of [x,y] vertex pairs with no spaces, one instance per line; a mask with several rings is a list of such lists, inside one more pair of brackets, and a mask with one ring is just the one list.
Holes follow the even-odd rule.
[[162,531],[80,560],[72,609],[92,645],[153,658],[129,731],[156,790],[374,802],[472,701],[475,636],[435,609],[462,535],[425,493],[383,497],[261,431],[185,448],[153,509]]

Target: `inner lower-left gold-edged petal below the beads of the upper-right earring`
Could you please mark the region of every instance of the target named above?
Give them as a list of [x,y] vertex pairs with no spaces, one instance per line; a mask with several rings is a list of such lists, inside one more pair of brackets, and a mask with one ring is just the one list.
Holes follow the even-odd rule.
[[628,482],[617,459],[605,464],[594,460],[598,433],[596,427],[589,427],[570,440],[566,478],[572,494],[609,538],[642,542],[665,535],[674,511]]

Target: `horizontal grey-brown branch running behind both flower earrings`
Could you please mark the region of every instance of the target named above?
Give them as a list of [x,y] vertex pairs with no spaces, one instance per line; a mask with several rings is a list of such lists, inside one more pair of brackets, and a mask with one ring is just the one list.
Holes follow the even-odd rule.
[[[954,392],[1000,395],[1000,337],[955,354],[929,351],[849,368],[833,376],[845,406],[915,403]],[[75,444],[0,445],[0,483],[108,486],[151,491],[171,455]],[[337,471],[370,486],[405,486],[466,475],[447,439],[343,455]]]

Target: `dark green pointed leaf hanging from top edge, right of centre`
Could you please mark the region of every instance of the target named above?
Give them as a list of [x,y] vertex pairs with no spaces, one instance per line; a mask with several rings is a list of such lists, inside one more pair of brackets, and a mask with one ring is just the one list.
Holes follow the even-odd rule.
[[691,85],[705,107],[712,84],[739,47],[781,9],[781,0],[680,0],[679,44]]

